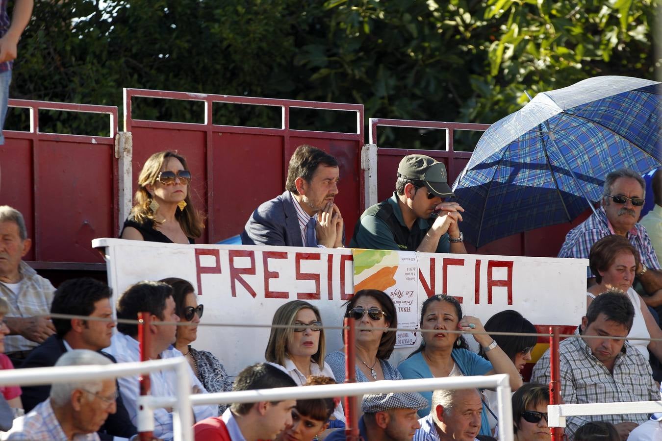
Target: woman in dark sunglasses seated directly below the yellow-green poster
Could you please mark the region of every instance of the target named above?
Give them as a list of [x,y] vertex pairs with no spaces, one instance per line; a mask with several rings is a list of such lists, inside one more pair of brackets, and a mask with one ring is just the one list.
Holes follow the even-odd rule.
[[[360,290],[345,303],[345,317],[354,319],[356,327],[355,378],[361,383],[377,380],[402,380],[400,372],[387,362],[395,346],[395,331],[379,328],[395,328],[398,317],[393,300],[380,290]],[[337,350],[326,356],[336,381],[345,381],[345,352]]]

